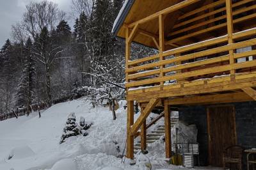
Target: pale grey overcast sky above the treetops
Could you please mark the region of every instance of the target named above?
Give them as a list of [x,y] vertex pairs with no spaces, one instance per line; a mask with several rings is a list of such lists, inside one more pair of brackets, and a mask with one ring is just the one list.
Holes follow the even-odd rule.
[[[26,4],[30,1],[42,1],[42,0],[0,0],[0,48],[3,46],[7,38],[11,38],[11,27],[17,21],[22,19],[22,13],[26,9]],[[49,0],[50,1],[50,0]],[[57,3],[59,8],[67,13],[71,10],[72,0],[51,0]],[[73,23],[70,27],[73,26]]]

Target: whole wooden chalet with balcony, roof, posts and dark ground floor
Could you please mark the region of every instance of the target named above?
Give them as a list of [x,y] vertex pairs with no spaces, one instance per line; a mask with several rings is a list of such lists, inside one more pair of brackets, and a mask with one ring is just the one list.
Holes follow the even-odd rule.
[[[198,126],[206,164],[221,166],[231,144],[256,147],[255,0],[128,0],[113,33],[125,39],[128,158],[137,135],[146,149],[145,120],[155,107],[164,108],[166,158],[172,108]],[[132,60],[132,42],[158,54]]]

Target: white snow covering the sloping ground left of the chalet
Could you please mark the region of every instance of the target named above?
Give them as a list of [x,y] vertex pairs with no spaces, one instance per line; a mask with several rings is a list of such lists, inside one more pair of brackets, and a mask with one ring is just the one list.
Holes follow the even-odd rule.
[[[93,125],[86,137],[70,137],[59,144],[70,112],[76,113],[77,120],[84,116]],[[121,163],[121,158],[117,157],[122,155],[126,139],[123,107],[116,111],[116,116],[114,121],[108,107],[92,109],[80,99],[53,105],[42,112],[42,118],[33,112],[30,116],[0,121],[0,169],[146,169],[144,164]],[[157,141],[148,150],[152,169],[185,169],[170,166],[163,160],[163,141]]]

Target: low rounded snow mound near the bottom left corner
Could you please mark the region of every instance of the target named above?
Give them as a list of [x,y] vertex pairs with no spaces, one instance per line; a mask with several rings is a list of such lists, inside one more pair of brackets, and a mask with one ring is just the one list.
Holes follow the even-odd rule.
[[35,155],[35,152],[29,148],[29,146],[20,146],[17,148],[13,148],[10,151],[7,159],[19,159],[19,158],[27,158]]

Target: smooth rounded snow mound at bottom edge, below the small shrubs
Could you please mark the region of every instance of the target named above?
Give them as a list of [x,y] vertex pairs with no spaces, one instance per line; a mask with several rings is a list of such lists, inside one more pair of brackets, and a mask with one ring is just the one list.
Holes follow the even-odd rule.
[[59,160],[52,166],[51,170],[76,170],[77,165],[71,158],[64,158]]

